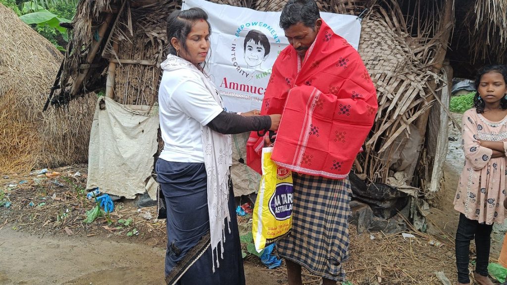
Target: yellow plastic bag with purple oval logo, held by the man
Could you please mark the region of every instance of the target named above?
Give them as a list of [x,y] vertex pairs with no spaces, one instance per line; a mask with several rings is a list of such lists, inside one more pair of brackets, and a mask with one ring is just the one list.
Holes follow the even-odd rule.
[[262,179],[253,206],[252,235],[256,250],[287,235],[292,228],[292,172],[271,160],[273,148],[262,149]]

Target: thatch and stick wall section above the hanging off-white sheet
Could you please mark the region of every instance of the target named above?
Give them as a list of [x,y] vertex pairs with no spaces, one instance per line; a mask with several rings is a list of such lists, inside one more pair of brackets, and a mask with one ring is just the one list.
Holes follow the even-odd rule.
[[117,102],[149,106],[157,102],[159,64],[165,58],[165,20],[175,8],[176,2],[167,0],[147,8],[131,8],[127,2],[121,11],[104,52],[104,57],[124,62],[116,63],[114,98]]

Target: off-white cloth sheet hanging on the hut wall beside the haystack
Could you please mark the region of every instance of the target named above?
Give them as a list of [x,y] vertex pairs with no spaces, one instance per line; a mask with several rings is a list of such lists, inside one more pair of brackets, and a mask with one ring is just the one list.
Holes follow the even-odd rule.
[[128,199],[148,191],[156,200],[158,185],[151,174],[158,147],[157,110],[122,105],[107,97],[99,97],[98,102],[90,133],[86,188],[99,187],[102,193]]

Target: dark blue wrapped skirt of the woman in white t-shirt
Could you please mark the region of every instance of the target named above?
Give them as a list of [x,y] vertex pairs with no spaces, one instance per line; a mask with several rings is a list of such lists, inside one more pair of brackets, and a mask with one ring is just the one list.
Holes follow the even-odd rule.
[[[204,163],[168,162],[159,159],[156,171],[167,210],[165,275],[171,275],[172,280],[179,279],[175,282],[177,285],[244,285],[232,183],[229,197],[231,233],[226,225],[224,259],[220,259],[219,244],[220,267],[215,265],[213,273],[211,247],[205,240],[209,234],[209,216]],[[196,248],[202,246],[203,241],[207,242],[207,246],[202,247],[202,252],[196,255]],[[192,265],[188,267],[186,264]],[[170,280],[168,282],[173,283]]]

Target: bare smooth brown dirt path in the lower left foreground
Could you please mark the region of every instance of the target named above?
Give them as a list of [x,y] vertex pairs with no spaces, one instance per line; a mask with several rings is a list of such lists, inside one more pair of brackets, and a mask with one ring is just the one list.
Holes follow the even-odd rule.
[[[165,248],[102,236],[0,230],[0,284],[163,284]],[[248,284],[278,284],[245,262]]]

